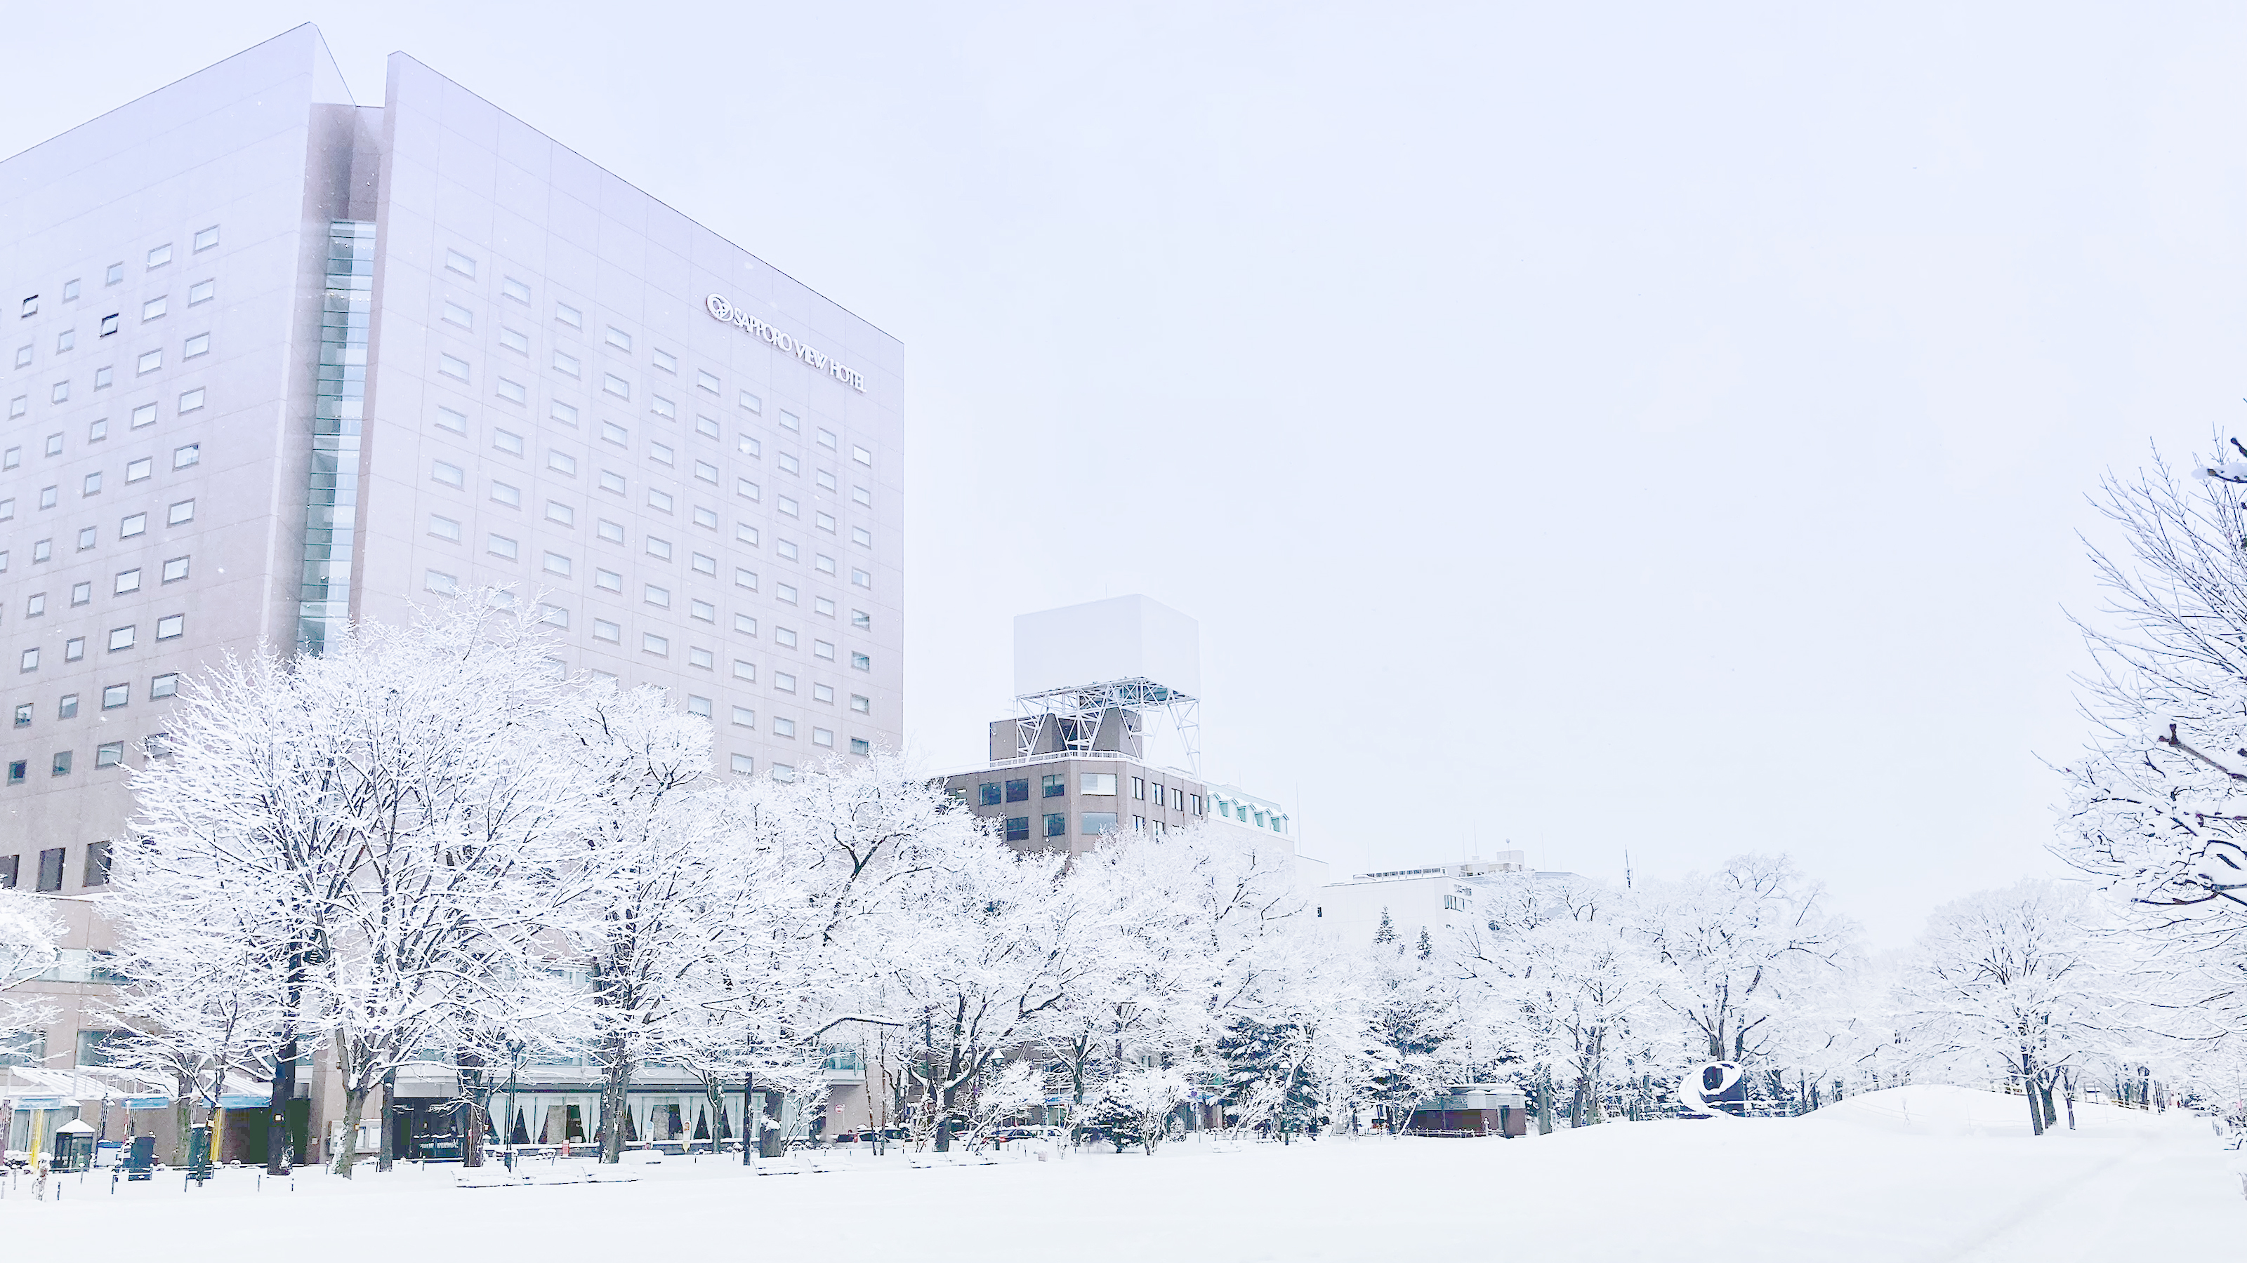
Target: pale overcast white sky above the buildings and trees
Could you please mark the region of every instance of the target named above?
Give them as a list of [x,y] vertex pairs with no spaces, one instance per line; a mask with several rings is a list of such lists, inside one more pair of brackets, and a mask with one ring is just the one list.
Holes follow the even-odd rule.
[[2083,490],[2247,418],[2231,4],[0,9],[0,153],[312,18],[899,335],[912,751],[1144,591],[1337,872],[2052,870]]

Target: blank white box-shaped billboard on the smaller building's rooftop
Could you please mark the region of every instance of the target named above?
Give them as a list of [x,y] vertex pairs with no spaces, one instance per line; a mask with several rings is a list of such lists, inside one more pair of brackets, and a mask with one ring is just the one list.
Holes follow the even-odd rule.
[[1013,618],[1016,697],[1119,679],[1146,679],[1200,697],[1200,623],[1144,596]]

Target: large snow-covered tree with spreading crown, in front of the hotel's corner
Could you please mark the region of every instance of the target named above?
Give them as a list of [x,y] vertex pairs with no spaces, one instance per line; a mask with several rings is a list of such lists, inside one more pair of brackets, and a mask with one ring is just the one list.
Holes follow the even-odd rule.
[[[119,883],[193,885],[258,926],[301,982],[290,1020],[333,1050],[346,1137],[391,1070],[542,975],[539,935],[582,894],[564,685],[537,625],[485,596],[353,627],[321,656],[222,663],[182,688],[173,753],[135,775],[148,841]],[[353,1162],[346,1139],[337,1173]]]

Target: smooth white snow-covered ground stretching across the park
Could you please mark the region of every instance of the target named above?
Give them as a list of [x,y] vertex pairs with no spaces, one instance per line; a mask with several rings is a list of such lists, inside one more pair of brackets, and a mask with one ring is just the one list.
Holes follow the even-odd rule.
[[[297,1189],[247,1171],[187,1193],[13,1182],[11,1259],[279,1256],[353,1241],[431,1259],[2238,1259],[2247,1200],[2204,1119],[2078,1106],[2027,1135],[2020,1099],[1901,1088],[1807,1119],[1611,1124],[1528,1139],[1186,1142],[1159,1155],[908,1157],[750,1178],[730,1162],[611,1169],[620,1184],[461,1189],[400,1169]],[[2065,1121],[2063,1121],[2065,1128]],[[924,1160],[926,1162],[926,1160]],[[537,1164],[539,1180],[577,1164]]]

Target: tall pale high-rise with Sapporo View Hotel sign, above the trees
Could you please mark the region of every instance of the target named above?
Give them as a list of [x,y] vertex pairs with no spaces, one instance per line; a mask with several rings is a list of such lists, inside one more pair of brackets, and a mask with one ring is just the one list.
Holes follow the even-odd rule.
[[0,885],[106,881],[220,654],[494,584],[721,771],[899,739],[899,342],[411,56],[0,162]]

